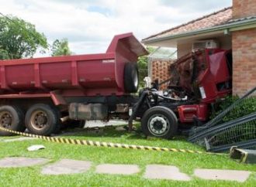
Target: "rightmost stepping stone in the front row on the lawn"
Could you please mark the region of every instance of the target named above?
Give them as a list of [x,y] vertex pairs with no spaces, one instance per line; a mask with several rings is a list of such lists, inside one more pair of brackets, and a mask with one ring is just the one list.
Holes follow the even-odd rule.
[[245,182],[251,172],[224,169],[195,169],[194,175],[201,179]]

